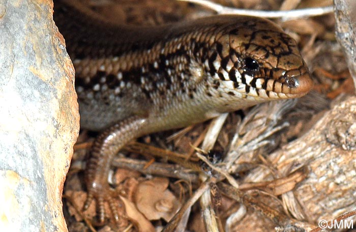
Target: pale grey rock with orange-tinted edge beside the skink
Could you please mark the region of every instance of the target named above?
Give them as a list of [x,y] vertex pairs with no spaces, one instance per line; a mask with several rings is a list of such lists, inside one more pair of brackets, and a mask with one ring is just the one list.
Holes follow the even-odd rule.
[[68,231],[63,183],[79,131],[52,1],[0,1],[0,230]]

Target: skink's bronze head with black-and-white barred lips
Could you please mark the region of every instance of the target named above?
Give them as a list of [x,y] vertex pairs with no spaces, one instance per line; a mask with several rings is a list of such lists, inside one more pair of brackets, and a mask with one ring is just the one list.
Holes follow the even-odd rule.
[[216,39],[209,60],[223,91],[263,101],[301,97],[311,90],[313,80],[290,36],[270,20],[236,21]]

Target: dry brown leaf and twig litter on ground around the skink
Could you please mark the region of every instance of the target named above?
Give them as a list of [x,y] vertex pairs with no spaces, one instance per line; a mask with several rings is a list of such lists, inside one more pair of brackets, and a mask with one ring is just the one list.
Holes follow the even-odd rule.
[[[134,25],[214,14],[180,1],[83,2],[113,21]],[[329,0],[214,2],[255,10],[332,5]],[[83,162],[93,138],[82,131],[64,190],[71,232],[204,231],[206,227],[308,231],[321,219],[332,220],[356,208],[356,100],[347,96],[355,90],[336,42],[334,16],[275,22],[299,42],[314,76],[314,90],[298,100],[260,104],[212,124],[155,133],[128,144],[115,158],[110,178],[121,216],[119,228],[109,217],[105,225],[96,225],[94,204],[81,211],[86,197]],[[205,149],[221,158],[206,159]]]

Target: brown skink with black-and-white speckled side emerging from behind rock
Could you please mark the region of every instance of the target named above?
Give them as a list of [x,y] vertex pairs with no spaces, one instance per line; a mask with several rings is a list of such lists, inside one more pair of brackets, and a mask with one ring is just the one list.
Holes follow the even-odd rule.
[[54,2],[76,75],[81,128],[102,131],[87,164],[100,221],[118,215],[110,162],[130,140],[261,102],[301,97],[313,81],[296,42],[256,17],[212,16],[155,27],[109,23],[72,1]]

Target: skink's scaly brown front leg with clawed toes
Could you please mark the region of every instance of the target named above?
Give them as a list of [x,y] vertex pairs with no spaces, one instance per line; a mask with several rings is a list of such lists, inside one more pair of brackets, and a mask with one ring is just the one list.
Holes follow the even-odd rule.
[[93,143],[91,157],[86,165],[85,182],[88,195],[84,210],[94,199],[100,223],[103,223],[105,218],[105,202],[109,204],[113,219],[118,222],[118,213],[112,197],[113,190],[107,181],[110,164],[114,155],[127,142],[144,134],[146,122],[142,117],[130,117],[106,129]]

